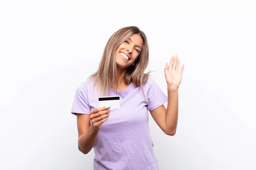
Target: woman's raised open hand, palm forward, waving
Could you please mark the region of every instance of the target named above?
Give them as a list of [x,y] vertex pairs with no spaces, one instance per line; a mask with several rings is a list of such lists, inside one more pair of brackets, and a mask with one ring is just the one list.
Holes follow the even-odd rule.
[[179,65],[180,59],[178,59],[177,55],[175,55],[175,57],[172,56],[169,65],[166,63],[166,67],[164,68],[164,74],[168,86],[167,88],[169,90],[177,90],[180,86],[184,65],[182,65],[182,67],[180,68],[180,72]]

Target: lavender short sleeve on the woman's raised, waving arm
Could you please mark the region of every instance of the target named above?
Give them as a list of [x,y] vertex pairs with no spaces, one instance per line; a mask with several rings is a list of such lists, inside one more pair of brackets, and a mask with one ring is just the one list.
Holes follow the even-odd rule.
[[151,76],[148,76],[148,110],[159,108],[168,101],[168,97],[163,93]]

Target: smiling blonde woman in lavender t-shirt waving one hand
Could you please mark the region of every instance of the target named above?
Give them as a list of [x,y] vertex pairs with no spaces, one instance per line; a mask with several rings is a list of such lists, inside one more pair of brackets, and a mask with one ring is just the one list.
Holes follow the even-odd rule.
[[[76,89],[71,110],[77,116],[79,150],[87,154],[94,149],[94,170],[158,169],[148,111],[164,133],[175,135],[184,69],[179,71],[179,63],[176,55],[164,68],[167,97],[149,72],[144,74],[148,43],[143,31],[125,27],[110,37],[98,71]],[[99,96],[119,96],[120,108],[99,107]]]

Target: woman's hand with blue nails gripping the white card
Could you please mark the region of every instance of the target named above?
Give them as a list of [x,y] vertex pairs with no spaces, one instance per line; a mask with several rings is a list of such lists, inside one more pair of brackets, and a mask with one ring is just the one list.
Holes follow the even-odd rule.
[[108,116],[110,115],[109,112],[111,112],[109,108],[110,107],[100,107],[90,111],[90,120],[92,121],[91,126],[94,130],[100,130],[102,123],[108,120]]

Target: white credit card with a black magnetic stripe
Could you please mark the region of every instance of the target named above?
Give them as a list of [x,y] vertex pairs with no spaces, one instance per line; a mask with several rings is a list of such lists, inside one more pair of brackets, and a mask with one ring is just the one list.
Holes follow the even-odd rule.
[[107,96],[99,97],[99,107],[110,106],[110,109],[120,108],[120,97],[119,96]]

